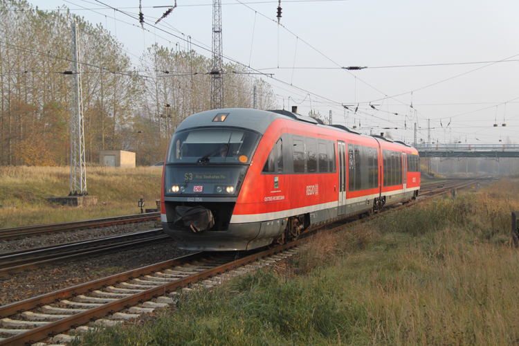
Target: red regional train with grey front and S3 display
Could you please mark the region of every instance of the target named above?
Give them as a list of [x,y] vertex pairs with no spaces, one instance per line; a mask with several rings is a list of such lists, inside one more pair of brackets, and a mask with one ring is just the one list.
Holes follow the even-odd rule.
[[417,149],[289,111],[193,114],[165,157],[161,221],[188,250],[250,250],[415,199]]

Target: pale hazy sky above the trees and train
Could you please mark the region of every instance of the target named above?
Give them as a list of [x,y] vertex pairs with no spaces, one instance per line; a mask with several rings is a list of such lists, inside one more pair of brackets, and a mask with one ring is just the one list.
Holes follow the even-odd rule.
[[[142,0],[146,30],[138,0],[29,2],[106,26],[135,64],[154,42],[211,56],[211,0],[176,0],[157,26],[167,8],[153,6],[174,0]],[[281,26],[277,5],[222,0],[222,37],[224,62],[273,73],[280,107],[407,143],[415,122],[427,141],[428,119],[431,142],[519,143],[519,1],[282,0]]]

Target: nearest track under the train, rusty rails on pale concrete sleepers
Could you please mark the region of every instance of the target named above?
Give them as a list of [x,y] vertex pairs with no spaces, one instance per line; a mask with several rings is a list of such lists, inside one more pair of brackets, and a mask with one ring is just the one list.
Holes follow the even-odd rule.
[[[448,193],[451,188],[464,188],[474,183],[464,181],[448,188],[437,188],[435,194],[421,201]],[[410,203],[410,206],[416,203],[419,201]],[[332,225],[333,228],[327,232],[345,226],[338,225]],[[244,256],[236,252],[194,253],[5,305],[0,307],[0,345],[31,345],[49,337],[51,343],[69,342],[74,334],[79,335],[92,327],[138,318],[140,313],[174,304],[179,291],[210,288],[236,275],[293,255],[298,251],[298,246],[300,248],[314,236],[311,231],[302,239],[265,251]],[[72,336],[60,334],[69,330]]]

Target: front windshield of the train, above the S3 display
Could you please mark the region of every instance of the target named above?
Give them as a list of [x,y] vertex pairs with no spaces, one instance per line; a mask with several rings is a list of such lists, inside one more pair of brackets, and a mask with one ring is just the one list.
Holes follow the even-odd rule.
[[179,131],[173,135],[167,163],[250,163],[259,137],[229,127]]

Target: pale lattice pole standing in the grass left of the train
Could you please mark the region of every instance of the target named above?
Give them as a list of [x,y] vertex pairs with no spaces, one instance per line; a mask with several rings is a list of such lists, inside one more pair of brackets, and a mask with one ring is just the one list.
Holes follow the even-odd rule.
[[81,89],[80,43],[78,24],[72,24],[72,111],[71,111],[71,192],[86,196],[84,160],[83,95]]

